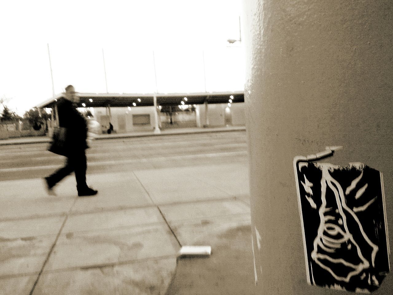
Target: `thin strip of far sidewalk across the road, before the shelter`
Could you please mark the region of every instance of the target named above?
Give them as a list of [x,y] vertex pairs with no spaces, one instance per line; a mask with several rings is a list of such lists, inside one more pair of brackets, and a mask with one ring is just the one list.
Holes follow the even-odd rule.
[[[133,133],[112,133],[98,135],[96,140],[109,139],[109,138],[127,138],[127,137],[144,137],[144,136],[163,136],[163,135],[174,135],[174,134],[190,134],[190,133],[208,133],[208,132],[224,132],[224,131],[237,131],[246,130],[245,126],[228,126],[228,127],[209,127],[209,128],[176,128],[176,129],[165,129],[160,133],[154,133],[154,131],[148,132],[133,132]],[[50,142],[48,136],[26,136],[18,138],[0,139],[0,146],[6,146],[11,144],[35,144]]]

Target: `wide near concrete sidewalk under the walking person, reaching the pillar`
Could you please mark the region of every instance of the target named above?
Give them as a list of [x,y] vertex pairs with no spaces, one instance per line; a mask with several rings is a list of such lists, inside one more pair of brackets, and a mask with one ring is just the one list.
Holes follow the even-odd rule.
[[[87,178],[97,196],[75,197],[73,177],[56,197],[40,179],[0,182],[4,294],[253,294],[247,165]],[[182,245],[212,254],[176,267]]]

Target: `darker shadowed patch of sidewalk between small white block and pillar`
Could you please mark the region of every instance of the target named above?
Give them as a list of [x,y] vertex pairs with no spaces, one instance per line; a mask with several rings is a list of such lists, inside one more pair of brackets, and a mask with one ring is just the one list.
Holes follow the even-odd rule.
[[208,257],[180,257],[165,295],[257,294],[250,226],[205,236],[198,245],[211,245]]

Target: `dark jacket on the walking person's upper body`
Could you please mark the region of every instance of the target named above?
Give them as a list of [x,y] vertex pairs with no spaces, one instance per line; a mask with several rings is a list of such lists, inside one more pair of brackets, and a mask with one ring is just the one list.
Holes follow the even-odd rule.
[[67,128],[66,146],[70,152],[87,149],[87,123],[74,104],[61,98],[57,105],[60,127]]

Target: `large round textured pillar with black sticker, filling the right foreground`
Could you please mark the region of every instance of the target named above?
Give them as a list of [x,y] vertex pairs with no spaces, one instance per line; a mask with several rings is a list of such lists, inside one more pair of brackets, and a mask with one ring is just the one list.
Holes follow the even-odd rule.
[[[353,294],[332,289],[336,280],[336,288],[390,294],[392,273],[380,284],[383,275],[378,272],[392,267],[387,252],[393,244],[393,2],[244,0],[243,4],[252,241],[259,293]],[[327,159],[316,159],[321,151],[317,156]],[[359,178],[362,188],[368,185],[359,189],[355,179],[360,172],[349,173],[363,169],[359,164],[340,170],[304,160],[303,168],[326,168],[322,176],[313,176],[316,181],[306,180],[306,174],[299,172],[304,170],[293,163],[295,157],[307,155],[314,155],[309,161],[318,163],[364,163],[383,173],[384,189],[379,176]],[[334,179],[334,173],[345,176],[332,185],[333,180],[326,179]],[[338,189],[341,186],[343,190]],[[338,207],[330,221],[324,198],[329,206],[334,204],[332,208]],[[328,221],[337,221],[330,243]],[[338,242],[340,234],[343,243]],[[369,242],[378,245],[378,251]],[[306,245],[313,243],[314,253],[307,254]],[[324,280],[330,288],[318,286]]]

